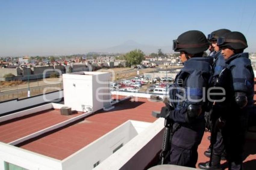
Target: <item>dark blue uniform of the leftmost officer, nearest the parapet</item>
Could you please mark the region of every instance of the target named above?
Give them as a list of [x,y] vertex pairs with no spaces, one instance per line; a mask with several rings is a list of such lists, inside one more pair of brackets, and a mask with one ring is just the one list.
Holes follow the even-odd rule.
[[[174,133],[171,141],[170,164],[195,167],[198,153],[197,148],[204,134],[205,101],[202,99],[203,90],[207,91],[211,75],[212,57],[193,57],[184,62],[184,68],[176,75],[173,87],[170,90],[170,99],[177,95],[185,96],[182,101],[171,102],[174,110],[170,111],[170,119],[174,122]],[[181,87],[181,88],[179,88]],[[203,89],[203,88],[206,89]],[[176,94],[174,94],[176,93]],[[201,114],[194,118],[188,116],[189,105],[202,106]]]

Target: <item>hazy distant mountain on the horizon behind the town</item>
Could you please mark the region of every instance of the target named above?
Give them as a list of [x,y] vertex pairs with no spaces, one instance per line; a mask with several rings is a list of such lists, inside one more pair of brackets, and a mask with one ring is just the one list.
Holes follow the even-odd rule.
[[131,50],[140,49],[146,54],[150,53],[157,53],[158,49],[161,48],[162,52],[164,53],[171,53],[173,52],[171,45],[170,46],[153,46],[153,45],[145,45],[145,44],[139,44],[136,41],[128,40],[125,41],[123,44],[105,48],[105,49],[99,49],[95,50],[97,52],[108,52],[108,53],[127,53]]

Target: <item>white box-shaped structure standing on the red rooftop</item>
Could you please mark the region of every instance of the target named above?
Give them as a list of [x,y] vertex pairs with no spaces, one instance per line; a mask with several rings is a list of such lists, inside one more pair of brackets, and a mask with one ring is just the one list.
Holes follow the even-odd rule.
[[81,71],[62,76],[65,106],[89,112],[110,105],[110,73]]

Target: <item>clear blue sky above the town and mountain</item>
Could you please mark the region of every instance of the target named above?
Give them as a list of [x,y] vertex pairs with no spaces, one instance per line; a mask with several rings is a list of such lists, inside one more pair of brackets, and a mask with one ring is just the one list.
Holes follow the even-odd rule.
[[134,40],[170,45],[188,30],[242,32],[256,52],[254,0],[0,0],[0,56],[86,53]]

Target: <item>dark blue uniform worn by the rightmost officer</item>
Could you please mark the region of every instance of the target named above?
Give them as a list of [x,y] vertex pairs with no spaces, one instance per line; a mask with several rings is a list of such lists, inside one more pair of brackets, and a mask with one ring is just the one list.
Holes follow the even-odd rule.
[[[231,56],[227,61],[228,75],[223,78],[226,84],[226,124],[222,129],[229,169],[242,169],[242,153],[245,142],[248,112],[253,104],[254,73],[248,53]],[[248,103],[240,108],[235,101],[235,93],[246,94]]]

